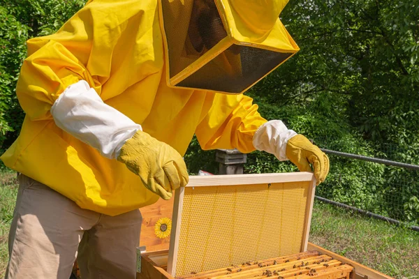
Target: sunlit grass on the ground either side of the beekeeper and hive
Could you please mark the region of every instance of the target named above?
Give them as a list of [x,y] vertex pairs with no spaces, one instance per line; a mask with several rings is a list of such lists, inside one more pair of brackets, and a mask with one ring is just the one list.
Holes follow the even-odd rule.
[[[17,195],[15,172],[0,172],[0,278]],[[419,278],[419,232],[317,202],[310,242],[395,278]]]

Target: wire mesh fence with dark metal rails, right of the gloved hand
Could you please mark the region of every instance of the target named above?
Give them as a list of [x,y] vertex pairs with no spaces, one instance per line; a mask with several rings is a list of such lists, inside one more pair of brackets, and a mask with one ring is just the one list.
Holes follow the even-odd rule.
[[325,138],[314,142],[332,162],[328,179],[316,191],[318,197],[419,228],[419,165],[400,161],[409,148],[375,144],[355,154],[336,151],[337,146]]

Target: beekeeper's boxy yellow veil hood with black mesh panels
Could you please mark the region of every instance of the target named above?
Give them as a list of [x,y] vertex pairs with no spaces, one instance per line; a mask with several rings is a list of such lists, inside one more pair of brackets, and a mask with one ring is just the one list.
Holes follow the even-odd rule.
[[161,0],[168,86],[243,93],[299,48],[288,0]]

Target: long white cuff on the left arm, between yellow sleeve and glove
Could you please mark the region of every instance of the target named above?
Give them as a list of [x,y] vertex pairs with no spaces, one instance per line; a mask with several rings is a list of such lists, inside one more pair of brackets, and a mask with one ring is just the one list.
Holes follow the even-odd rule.
[[109,159],[117,158],[126,140],[142,130],[122,112],[103,103],[84,80],[61,93],[51,107],[51,114],[59,128]]

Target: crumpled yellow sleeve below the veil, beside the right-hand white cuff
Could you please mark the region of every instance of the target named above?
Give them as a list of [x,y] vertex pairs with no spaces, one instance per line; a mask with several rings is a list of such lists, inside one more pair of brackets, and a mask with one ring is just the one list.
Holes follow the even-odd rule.
[[254,151],[253,135],[267,122],[258,113],[253,99],[217,93],[212,107],[196,128],[202,149],[238,149],[242,153]]

